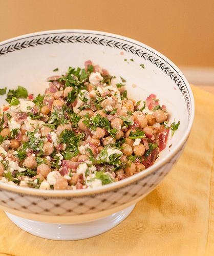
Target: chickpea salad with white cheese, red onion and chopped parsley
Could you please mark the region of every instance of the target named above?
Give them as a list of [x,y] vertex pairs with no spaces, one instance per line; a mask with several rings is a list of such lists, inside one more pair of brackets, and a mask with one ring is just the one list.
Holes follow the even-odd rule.
[[[55,69],[54,71],[58,71]],[[154,164],[180,122],[155,94],[136,102],[126,80],[90,60],[47,79],[36,97],[0,89],[0,182],[38,189],[95,188]]]

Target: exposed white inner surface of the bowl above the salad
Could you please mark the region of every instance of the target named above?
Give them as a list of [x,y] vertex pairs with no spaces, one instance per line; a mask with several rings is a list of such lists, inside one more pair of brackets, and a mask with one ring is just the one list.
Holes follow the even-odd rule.
[[[135,40],[102,32],[49,31],[5,41],[0,44],[1,88],[21,85],[29,93],[44,93],[47,77],[65,73],[69,66],[83,68],[89,59],[110,74],[123,77],[129,97],[143,101],[154,93],[167,106],[169,121],[180,120],[178,131],[168,140],[158,161],[168,156],[188,128],[191,92],[172,62]],[[59,71],[53,72],[55,68]],[[1,96],[1,104],[4,98]]]

